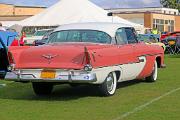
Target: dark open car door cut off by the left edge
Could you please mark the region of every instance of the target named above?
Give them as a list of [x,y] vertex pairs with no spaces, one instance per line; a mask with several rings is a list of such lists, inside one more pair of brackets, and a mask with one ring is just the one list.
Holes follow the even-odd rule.
[[7,50],[2,40],[0,39],[0,79],[4,78],[7,72],[8,58]]

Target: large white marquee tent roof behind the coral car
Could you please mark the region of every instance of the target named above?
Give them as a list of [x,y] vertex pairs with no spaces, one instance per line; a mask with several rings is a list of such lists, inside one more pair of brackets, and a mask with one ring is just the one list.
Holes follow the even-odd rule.
[[[112,17],[107,16],[107,13],[89,0],[60,0],[43,12],[18,24],[22,26],[58,26],[82,22],[112,22]],[[143,27],[120,17],[114,17],[113,21]]]

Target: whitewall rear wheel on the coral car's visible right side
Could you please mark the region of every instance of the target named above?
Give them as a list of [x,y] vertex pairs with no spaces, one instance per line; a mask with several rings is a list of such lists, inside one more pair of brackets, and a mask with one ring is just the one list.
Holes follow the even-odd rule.
[[117,86],[116,74],[115,72],[111,72],[99,87],[102,95],[112,96],[116,91],[116,86]]

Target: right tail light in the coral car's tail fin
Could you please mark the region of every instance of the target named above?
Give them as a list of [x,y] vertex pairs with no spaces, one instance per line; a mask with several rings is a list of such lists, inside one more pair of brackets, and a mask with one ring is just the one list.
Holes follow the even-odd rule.
[[85,71],[91,71],[92,70],[91,58],[90,58],[89,52],[88,52],[86,47],[84,47],[84,54],[85,54],[85,66],[84,66],[84,70]]

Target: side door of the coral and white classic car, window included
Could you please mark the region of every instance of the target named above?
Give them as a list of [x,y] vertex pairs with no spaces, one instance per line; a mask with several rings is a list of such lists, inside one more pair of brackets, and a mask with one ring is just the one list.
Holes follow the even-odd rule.
[[134,44],[130,41],[127,28],[119,28],[116,31],[116,42],[119,52],[119,63],[121,71],[121,81],[134,79],[137,75],[136,56],[134,55]]

